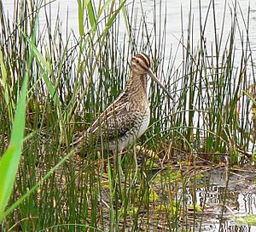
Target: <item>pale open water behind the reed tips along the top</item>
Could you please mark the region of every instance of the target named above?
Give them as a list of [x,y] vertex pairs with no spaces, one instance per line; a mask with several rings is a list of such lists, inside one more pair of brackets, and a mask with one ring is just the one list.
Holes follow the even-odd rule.
[[[46,1],[49,2],[49,1]],[[96,3],[98,1],[95,1]],[[127,1],[127,10],[129,12],[129,9],[131,9],[131,2]],[[191,5],[190,5],[191,2]],[[207,8],[212,1],[210,0],[166,0],[166,1],[135,1],[135,8],[133,9],[133,15],[137,17],[137,20],[141,19],[142,15],[142,8],[143,12],[146,15],[146,20],[148,22],[148,27],[150,28],[150,25],[153,25],[154,22],[154,12],[155,12],[155,19],[157,21],[160,21],[163,23],[163,20],[166,17],[166,36],[168,39],[168,42],[166,42],[166,50],[170,48],[177,48],[179,44],[179,39],[182,34],[182,20],[181,20],[181,11],[183,12],[183,32],[186,33],[186,28],[188,25],[189,20],[189,11],[191,10],[192,13],[192,19],[194,21],[194,40],[197,41],[200,38],[200,12],[199,12],[199,2],[201,2],[201,19],[204,23],[204,20],[207,16]],[[216,25],[217,25],[217,31],[221,33],[221,27],[222,23],[224,21],[224,41],[229,36],[230,32],[230,26],[231,26],[231,11],[232,8],[234,8],[234,2],[236,1],[224,1],[224,0],[215,0],[213,1],[215,5],[215,14],[216,17]],[[227,2],[227,4],[225,4]],[[154,5],[155,4],[155,5]],[[6,9],[6,12],[12,17],[13,15],[13,8],[14,8],[14,1],[3,1],[3,6]],[[56,15],[58,12],[60,21],[63,25],[63,31],[66,30],[66,24],[67,24],[67,30],[68,32],[73,31],[75,35],[79,35],[79,14],[78,14],[78,4],[76,0],[57,0],[53,3],[50,3],[51,13],[52,13],[52,25],[55,24]],[[226,8],[225,8],[226,6]],[[154,11],[155,7],[155,11]],[[237,1],[237,18],[240,22],[241,28],[243,27],[243,18],[245,20],[245,23],[247,23],[247,14],[250,13],[250,27],[249,27],[249,39],[251,42],[251,48],[253,50],[256,49],[256,1],[249,1],[249,0],[241,0]],[[47,8],[49,11],[49,7]],[[232,13],[234,14],[234,12]],[[68,15],[68,18],[67,18]],[[45,17],[44,12],[40,14],[40,22],[44,25]],[[125,24],[121,20],[119,27],[119,34],[122,35],[125,33]],[[137,25],[135,25],[137,26]],[[239,33],[236,33],[236,49],[239,50],[241,48],[241,37],[239,36]],[[244,37],[247,35],[244,34]],[[205,37],[207,39],[207,44],[210,46],[212,42],[214,42],[214,24],[213,24],[213,10],[210,9],[207,25],[206,25],[206,31],[205,31]],[[122,37],[119,37],[119,40],[122,41]],[[169,48],[168,48],[169,47]],[[168,54],[168,53],[166,53]],[[177,65],[181,60],[178,60],[175,62]]]

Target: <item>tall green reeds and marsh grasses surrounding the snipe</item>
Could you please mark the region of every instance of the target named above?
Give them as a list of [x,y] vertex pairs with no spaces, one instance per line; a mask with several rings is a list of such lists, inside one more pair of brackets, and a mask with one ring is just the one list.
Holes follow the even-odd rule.
[[[234,203],[247,193],[255,200],[250,8],[224,2],[216,15],[210,1],[198,8],[200,31],[181,10],[182,34],[170,48],[166,18],[155,13],[165,4],[155,3],[154,24],[143,4],[137,17],[135,3],[76,4],[79,35],[63,34],[58,16],[51,24],[51,3],[15,1],[11,19],[0,0],[2,231],[253,231],[255,203],[249,223]],[[73,153],[73,139],[117,98],[139,52],[174,100],[150,84],[150,127],[119,166],[108,151]]]

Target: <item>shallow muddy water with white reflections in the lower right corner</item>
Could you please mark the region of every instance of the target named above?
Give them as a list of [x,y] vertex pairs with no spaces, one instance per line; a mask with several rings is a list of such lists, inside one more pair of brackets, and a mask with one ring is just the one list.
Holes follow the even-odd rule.
[[[225,173],[224,168],[214,169],[198,182],[202,187],[196,189],[196,204],[204,213],[198,217],[202,224],[196,231],[256,231],[256,226],[245,225],[245,220],[239,223],[242,222],[239,218],[256,215],[256,184],[251,180],[255,174],[230,172],[226,180]],[[187,204],[193,205],[191,191],[188,193]]]

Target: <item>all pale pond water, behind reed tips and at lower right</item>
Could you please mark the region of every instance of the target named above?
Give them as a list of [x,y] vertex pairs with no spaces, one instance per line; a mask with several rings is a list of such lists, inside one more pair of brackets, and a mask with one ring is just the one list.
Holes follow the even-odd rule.
[[[182,23],[181,23],[181,7],[183,8],[183,25],[188,24],[189,19],[189,9],[191,8],[193,20],[194,20],[194,37],[195,41],[200,37],[200,14],[199,14],[199,2],[201,2],[201,14],[202,19],[205,19],[207,14],[207,7],[211,1],[208,0],[192,0],[191,6],[189,0],[166,0],[165,1],[136,1],[135,12],[139,19],[143,11],[147,15],[148,25],[152,25],[154,17],[154,2],[156,2],[156,18],[160,19],[162,16],[160,14],[160,8],[167,8],[166,14],[165,10],[162,11],[163,17],[166,16],[166,35],[168,37],[167,48],[177,48],[182,33]],[[223,0],[215,0],[215,10],[217,17],[217,28],[219,33],[223,15],[224,15],[224,2]],[[256,50],[256,1],[242,0],[238,3],[238,19],[241,25],[242,14],[247,21],[248,7],[250,6],[250,34],[249,39],[251,42],[252,50]],[[225,16],[225,28],[224,37],[228,37],[228,28],[231,23],[230,8],[232,8],[234,1],[227,1],[226,16]],[[66,28],[67,23],[67,12],[68,12],[68,31],[73,30],[74,34],[79,34],[79,19],[78,19],[78,4],[76,0],[58,0],[51,3],[51,12],[54,16],[57,12],[61,12],[60,20]],[[14,3],[13,1],[3,1],[3,6],[12,18]],[[127,4],[127,9],[129,11],[129,3]],[[242,14],[241,14],[242,13]],[[212,11],[209,14],[209,18],[212,17]],[[55,23],[55,17],[53,17],[52,24]],[[44,14],[40,15],[40,22],[44,23]],[[213,20],[207,20],[207,27],[205,32],[205,37],[207,37],[207,43],[211,44],[214,42],[214,29]],[[64,29],[63,29],[64,30]],[[120,34],[125,32],[125,27],[120,28]],[[244,35],[246,36],[246,35]],[[241,37],[237,36],[236,41],[239,50],[241,48]],[[168,54],[168,53],[166,53]],[[181,60],[175,61],[175,65],[179,65]],[[201,180],[201,187],[197,188],[196,191],[196,201],[198,205],[203,202],[207,206],[205,215],[201,216],[202,224],[201,229],[195,228],[196,231],[240,231],[240,232],[256,232],[256,226],[248,225],[246,221],[239,221],[240,217],[247,215],[256,215],[256,185],[255,185],[255,173],[253,170],[236,172],[232,171],[230,173],[230,178],[227,183],[226,174],[224,173],[224,168],[218,168],[213,170],[211,174],[207,176],[204,180]],[[207,184],[206,184],[207,183]],[[226,195],[226,206],[224,209],[222,207],[222,201]],[[189,196],[191,197],[191,195]],[[192,203],[192,199],[190,201]],[[223,223],[220,224],[220,219],[223,218]],[[255,219],[254,219],[255,220]],[[255,223],[255,221],[254,221]]]

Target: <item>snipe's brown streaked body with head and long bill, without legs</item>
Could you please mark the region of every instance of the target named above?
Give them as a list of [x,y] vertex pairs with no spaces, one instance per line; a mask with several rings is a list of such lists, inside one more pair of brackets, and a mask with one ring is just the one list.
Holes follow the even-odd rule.
[[131,59],[131,74],[123,93],[87,129],[75,144],[81,150],[84,143],[95,143],[98,149],[123,150],[134,143],[148,128],[150,110],[147,95],[147,76],[157,82],[172,98],[150,69],[147,54]]

